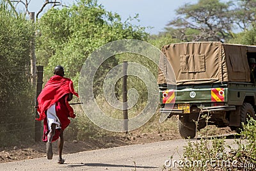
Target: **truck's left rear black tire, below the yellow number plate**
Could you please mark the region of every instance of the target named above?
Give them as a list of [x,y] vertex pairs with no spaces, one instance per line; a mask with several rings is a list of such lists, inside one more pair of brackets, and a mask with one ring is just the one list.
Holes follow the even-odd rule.
[[194,138],[196,136],[196,124],[194,122],[185,123],[179,120],[179,133],[183,138]]

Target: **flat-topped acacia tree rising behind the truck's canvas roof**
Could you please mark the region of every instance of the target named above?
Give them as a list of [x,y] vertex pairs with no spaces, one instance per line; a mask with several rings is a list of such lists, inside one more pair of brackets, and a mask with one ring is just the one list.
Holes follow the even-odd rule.
[[[182,41],[225,41],[232,38],[231,2],[200,0],[179,8],[168,23],[173,38]],[[168,28],[170,29],[170,28]]]

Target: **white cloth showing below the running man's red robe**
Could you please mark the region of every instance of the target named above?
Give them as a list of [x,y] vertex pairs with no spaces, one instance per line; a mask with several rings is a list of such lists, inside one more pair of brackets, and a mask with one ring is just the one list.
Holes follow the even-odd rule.
[[48,129],[51,130],[52,124],[56,124],[56,129],[60,129],[60,119],[56,115],[56,110],[55,110],[55,104],[51,105],[47,109],[47,123],[48,123]]

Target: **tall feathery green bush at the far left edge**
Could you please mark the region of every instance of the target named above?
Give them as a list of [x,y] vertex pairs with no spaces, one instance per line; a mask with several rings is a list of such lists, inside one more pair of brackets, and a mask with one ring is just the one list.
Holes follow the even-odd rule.
[[35,92],[28,71],[34,30],[24,15],[0,4],[0,146],[33,141]]

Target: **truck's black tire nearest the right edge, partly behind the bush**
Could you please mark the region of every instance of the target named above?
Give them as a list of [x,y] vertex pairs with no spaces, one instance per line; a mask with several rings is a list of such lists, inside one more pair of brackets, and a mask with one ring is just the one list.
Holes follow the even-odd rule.
[[237,133],[241,133],[241,130],[243,130],[242,123],[246,124],[246,119],[248,119],[249,116],[256,119],[254,108],[250,103],[243,103],[240,110],[240,126],[236,128]]

